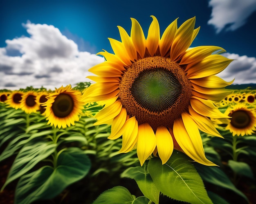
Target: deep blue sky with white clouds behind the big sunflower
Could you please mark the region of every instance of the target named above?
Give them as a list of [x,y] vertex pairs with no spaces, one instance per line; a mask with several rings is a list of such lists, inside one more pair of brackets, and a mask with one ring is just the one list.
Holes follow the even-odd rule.
[[[192,46],[216,45],[235,59],[219,74],[234,83],[256,83],[255,0],[8,0],[0,4],[0,89],[54,89],[82,81],[112,52],[117,26],[130,33],[136,18],[147,33],[155,15],[160,32],[179,17],[201,26]],[[196,2],[196,3],[195,3]]]

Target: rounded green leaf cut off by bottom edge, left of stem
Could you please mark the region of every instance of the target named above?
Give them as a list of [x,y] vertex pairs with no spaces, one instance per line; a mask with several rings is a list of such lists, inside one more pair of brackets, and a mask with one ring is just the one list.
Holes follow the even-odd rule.
[[128,189],[123,186],[115,186],[106,190],[92,204],[131,204],[135,200]]

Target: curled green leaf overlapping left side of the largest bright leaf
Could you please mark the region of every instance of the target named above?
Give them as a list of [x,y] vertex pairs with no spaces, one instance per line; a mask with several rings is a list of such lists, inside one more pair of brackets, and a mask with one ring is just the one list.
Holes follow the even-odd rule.
[[143,167],[130,167],[121,174],[121,177],[132,178],[136,181],[139,189],[149,200],[159,203],[160,191],[155,186],[149,172]]

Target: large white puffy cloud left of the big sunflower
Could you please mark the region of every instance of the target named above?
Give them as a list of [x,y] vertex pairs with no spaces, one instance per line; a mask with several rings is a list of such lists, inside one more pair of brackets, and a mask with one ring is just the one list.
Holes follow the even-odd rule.
[[55,87],[88,81],[88,69],[102,57],[79,51],[78,45],[59,29],[47,24],[23,24],[30,37],[7,39],[0,48],[0,89],[34,86]]

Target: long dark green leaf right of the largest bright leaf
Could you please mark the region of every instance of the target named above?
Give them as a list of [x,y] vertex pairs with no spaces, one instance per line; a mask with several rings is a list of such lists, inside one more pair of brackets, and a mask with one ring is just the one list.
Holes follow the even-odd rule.
[[224,189],[229,189],[236,193],[237,195],[243,197],[247,202],[248,199],[241,191],[239,191],[234,184],[229,180],[227,175],[220,169],[220,167],[208,167],[200,164],[195,164],[198,173],[201,175],[202,179],[206,182],[220,186]]

